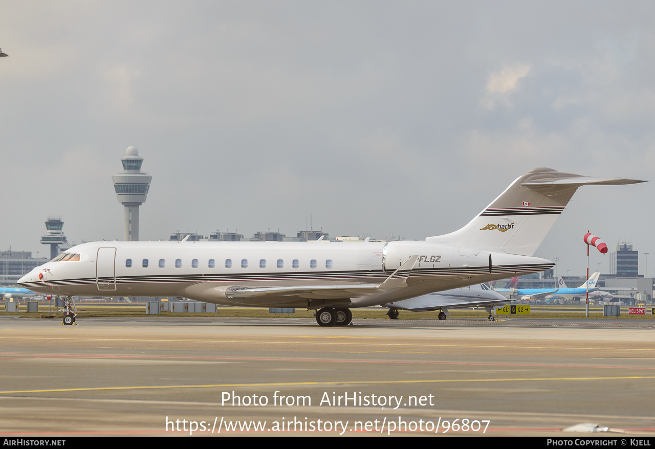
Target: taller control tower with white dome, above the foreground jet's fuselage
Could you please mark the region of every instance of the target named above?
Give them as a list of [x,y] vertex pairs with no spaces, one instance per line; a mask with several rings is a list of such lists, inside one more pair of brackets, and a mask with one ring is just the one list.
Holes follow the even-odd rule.
[[138,149],[128,147],[125,153],[126,156],[121,159],[122,173],[113,175],[111,180],[119,203],[125,207],[123,240],[136,242],[139,240],[139,206],[145,202],[153,177],[141,173],[143,158],[139,156]]

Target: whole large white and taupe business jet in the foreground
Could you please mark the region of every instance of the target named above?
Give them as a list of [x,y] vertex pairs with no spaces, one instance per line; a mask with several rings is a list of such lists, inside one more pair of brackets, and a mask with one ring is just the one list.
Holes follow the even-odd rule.
[[61,296],[67,311],[72,296],[179,296],[307,308],[321,326],[347,325],[351,308],[548,270],[534,251],[578,187],[640,182],[536,168],[468,225],[424,242],[90,242],[18,284]]

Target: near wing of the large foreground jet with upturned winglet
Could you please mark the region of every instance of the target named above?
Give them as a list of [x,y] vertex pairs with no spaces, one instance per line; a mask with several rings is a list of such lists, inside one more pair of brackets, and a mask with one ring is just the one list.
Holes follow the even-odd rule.
[[296,300],[297,298],[307,299],[350,299],[358,296],[373,295],[381,293],[386,289],[407,286],[407,277],[414,268],[419,256],[411,256],[409,259],[394,271],[391,276],[384,279],[380,284],[365,285],[293,285],[280,287],[248,287],[235,285],[225,290],[225,296],[229,299],[256,299],[261,304],[266,304],[267,300],[271,302],[280,302]]

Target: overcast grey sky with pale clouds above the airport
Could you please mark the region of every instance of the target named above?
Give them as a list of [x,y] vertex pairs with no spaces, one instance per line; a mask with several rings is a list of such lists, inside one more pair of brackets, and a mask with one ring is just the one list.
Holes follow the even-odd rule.
[[[423,240],[535,167],[655,179],[654,5],[3,1],[0,249],[48,254],[48,215],[122,239],[129,145],[153,176],[141,240],[295,236],[310,213]],[[652,276],[654,191],[583,187],[536,255],[582,275],[590,229]]]

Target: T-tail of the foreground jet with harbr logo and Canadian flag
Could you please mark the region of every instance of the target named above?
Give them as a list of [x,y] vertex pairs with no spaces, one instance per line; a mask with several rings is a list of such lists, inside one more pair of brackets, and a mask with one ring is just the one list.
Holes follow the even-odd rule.
[[468,225],[428,242],[449,243],[498,253],[532,256],[555,220],[582,185],[643,183],[637,179],[595,178],[535,168],[505,189]]

